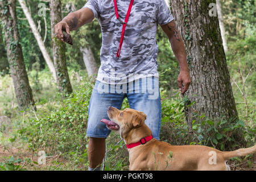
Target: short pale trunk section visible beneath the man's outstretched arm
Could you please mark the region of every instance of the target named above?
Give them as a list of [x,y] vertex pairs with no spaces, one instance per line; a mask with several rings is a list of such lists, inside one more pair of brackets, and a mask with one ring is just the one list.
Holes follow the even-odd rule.
[[97,75],[98,68],[96,61],[93,56],[92,49],[90,47],[80,47],[80,51],[82,52],[82,57],[84,59],[84,64],[86,67],[86,71],[89,76]]

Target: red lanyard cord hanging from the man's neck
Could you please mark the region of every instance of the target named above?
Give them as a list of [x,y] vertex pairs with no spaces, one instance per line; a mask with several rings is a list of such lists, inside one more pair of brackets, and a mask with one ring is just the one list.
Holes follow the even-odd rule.
[[131,7],[133,7],[133,2],[134,2],[134,0],[131,0],[130,5],[129,5],[129,9],[128,9],[126,17],[125,17],[125,22],[122,22],[122,20],[119,18],[119,15],[118,15],[117,0],[114,0],[115,15],[117,16],[117,19],[123,24],[121,40],[120,40],[119,48],[118,48],[118,51],[117,51],[117,57],[119,57],[120,53],[121,53],[121,48],[122,48],[122,45],[123,45],[123,38],[125,36],[125,28],[126,28],[126,24],[128,23],[128,20],[129,20],[129,16],[130,16],[130,13],[131,13]]

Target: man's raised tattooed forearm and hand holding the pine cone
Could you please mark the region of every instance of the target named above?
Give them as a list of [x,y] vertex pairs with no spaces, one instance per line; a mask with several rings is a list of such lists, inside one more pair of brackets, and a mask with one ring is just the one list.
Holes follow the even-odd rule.
[[70,34],[71,31],[77,30],[77,28],[83,26],[85,23],[92,22],[94,14],[92,10],[88,8],[82,8],[73,13],[69,13],[61,22],[55,25],[55,34],[62,42],[64,42],[63,31]]

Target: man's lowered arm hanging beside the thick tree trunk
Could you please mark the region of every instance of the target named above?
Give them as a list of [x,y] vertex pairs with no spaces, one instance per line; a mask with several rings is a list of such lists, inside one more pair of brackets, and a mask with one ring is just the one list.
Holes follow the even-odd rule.
[[[178,84],[181,94],[184,94],[185,92],[187,92],[189,85],[191,84],[184,43],[181,39],[179,31],[177,30],[174,20],[168,24],[164,24],[161,27],[168,36],[171,43],[172,51],[174,51],[174,55],[179,62],[180,75],[178,77]],[[184,85],[184,88],[182,88],[182,84]]]

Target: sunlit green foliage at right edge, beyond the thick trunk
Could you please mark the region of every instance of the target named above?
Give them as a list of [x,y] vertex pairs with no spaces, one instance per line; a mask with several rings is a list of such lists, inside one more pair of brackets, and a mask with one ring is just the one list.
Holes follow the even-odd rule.
[[[245,39],[229,43],[227,62],[232,77],[233,93],[237,102],[237,110],[241,119],[255,125],[255,32]],[[243,90],[244,88],[244,90]],[[243,93],[243,94],[242,94]],[[247,104],[245,103],[245,96]],[[248,114],[246,114],[248,112]]]

